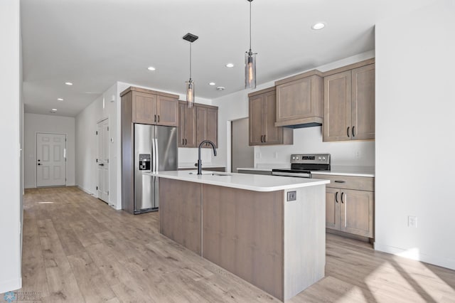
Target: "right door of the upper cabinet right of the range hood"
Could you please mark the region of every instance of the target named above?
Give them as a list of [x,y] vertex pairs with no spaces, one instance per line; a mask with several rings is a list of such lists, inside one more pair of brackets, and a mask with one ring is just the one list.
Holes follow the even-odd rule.
[[375,139],[375,65],[352,70],[352,139]]

